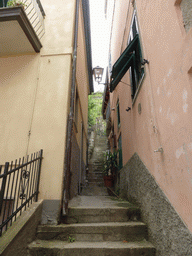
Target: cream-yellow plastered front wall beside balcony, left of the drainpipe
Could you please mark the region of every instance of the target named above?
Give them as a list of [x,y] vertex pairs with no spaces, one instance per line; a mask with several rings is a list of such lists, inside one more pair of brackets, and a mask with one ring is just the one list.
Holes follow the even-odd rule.
[[42,5],[46,32],[40,54],[0,58],[0,163],[42,148],[40,198],[60,199],[75,0]]

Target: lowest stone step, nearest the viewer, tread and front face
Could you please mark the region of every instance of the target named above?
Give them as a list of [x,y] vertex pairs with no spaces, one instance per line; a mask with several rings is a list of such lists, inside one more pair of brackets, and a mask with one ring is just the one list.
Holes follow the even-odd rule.
[[147,242],[63,242],[36,240],[29,246],[30,256],[155,256]]

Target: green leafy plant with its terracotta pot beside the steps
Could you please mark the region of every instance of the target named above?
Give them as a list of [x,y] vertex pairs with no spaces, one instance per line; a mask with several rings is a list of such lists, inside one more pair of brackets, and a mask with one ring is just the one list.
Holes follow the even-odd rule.
[[103,179],[105,187],[113,187],[114,177],[118,170],[117,154],[118,151],[112,153],[109,150],[104,154]]

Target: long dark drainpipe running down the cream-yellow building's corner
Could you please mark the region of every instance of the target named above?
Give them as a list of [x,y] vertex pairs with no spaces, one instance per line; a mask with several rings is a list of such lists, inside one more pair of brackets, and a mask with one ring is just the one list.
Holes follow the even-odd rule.
[[72,64],[72,79],[71,79],[71,99],[70,111],[67,121],[67,137],[66,150],[64,162],[64,182],[62,193],[62,215],[66,215],[68,211],[68,203],[70,198],[70,169],[71,169],[71,148],[72,148],[72,133],[73,133],[73,118],[74,118],[74,102],[75,102],[75,88],[76,88],[76,64],[77,64],[77,39],[78,39],[78,19],[79,19],[79,2],[76,0],[75,10],[75,34],[73,43],[73,64]]

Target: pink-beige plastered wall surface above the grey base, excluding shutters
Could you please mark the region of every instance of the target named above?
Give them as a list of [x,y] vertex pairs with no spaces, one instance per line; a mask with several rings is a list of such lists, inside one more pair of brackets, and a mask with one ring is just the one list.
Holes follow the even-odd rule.
[[[114,23],[118,26],[113,27],[112,64],[122,52],[122,42],[122,50],[127,46],[133,12],[128,1],[116,2]],[[181,10],[174,2],[135,1],[143,57],[150,63],[145,65],[145,78],[134,104],[130,86],[119,83],[111,95],[111,108],[119,97],[119,131],[116,112],[112,117],[117,137],[122,133],[123,163],[137,152],[192,231],[192,30],[186,33]],[[122,81],[130,84],[129,72]],[[126,112],[128,106],[132,109]],[[154,153],[159,147],[163,154]]]

